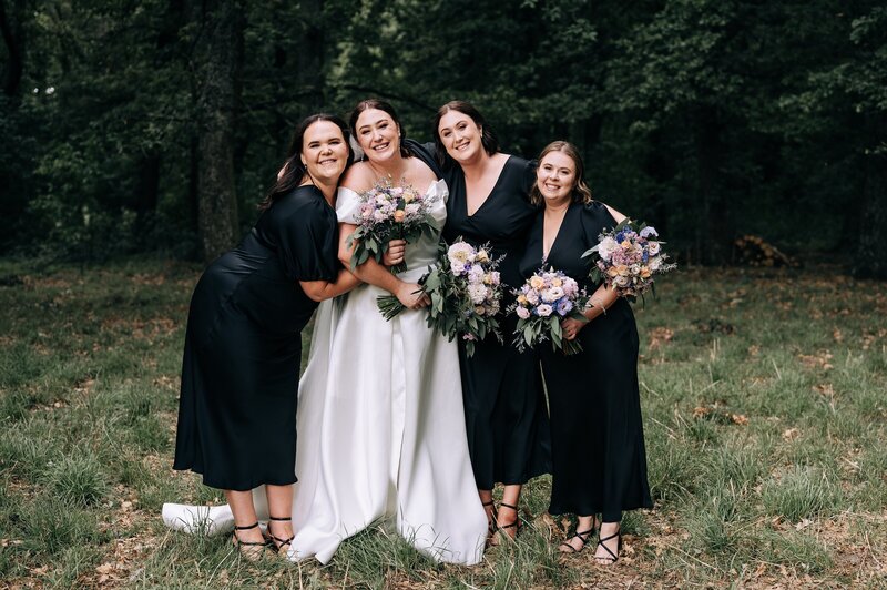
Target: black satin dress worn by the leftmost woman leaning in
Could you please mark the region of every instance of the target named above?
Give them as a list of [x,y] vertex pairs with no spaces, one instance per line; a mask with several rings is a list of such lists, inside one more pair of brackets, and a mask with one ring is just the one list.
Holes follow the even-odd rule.
[[336,212],[315,186],[276,200],[191,299],[175,469],[249,490],[296,481],[302,328],[317,303],[299,281],[335,281]]

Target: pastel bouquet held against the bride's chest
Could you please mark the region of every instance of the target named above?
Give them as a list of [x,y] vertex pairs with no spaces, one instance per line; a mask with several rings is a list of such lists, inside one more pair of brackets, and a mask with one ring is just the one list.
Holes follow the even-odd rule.
[[[357,230],[348,237],[354,246],[351,269],[371,255],[381,262],[391,240],[415,242],[422,234],[435,236],[437,227],[430,210],[434,199],[406,184],[395,186],[390,179],[380,179],[373,189],[360,193]],[[391,273],[407,269],[406,262],[391,266]]]

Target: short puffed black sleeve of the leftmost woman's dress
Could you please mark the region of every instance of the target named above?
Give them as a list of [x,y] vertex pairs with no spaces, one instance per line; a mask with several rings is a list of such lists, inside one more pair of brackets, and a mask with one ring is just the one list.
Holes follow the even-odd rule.
[[333,208],[319,200],[287,207],[277,220],[277,253],[294,281],[335,281],[338,274],[338,226]]

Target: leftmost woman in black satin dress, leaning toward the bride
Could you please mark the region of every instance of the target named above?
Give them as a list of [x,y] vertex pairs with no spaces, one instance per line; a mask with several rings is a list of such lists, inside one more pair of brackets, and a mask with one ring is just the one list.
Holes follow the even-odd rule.
[[340,119],[303,121],[255,227],[206,269],[191,299],[173,467],[225,490],[233,542],[249,559],[265,545],[253,488],[266,486],[278,550],[293,537],[302,328],[318,302],[358,284],[337,258],[334,208],[351,160]]

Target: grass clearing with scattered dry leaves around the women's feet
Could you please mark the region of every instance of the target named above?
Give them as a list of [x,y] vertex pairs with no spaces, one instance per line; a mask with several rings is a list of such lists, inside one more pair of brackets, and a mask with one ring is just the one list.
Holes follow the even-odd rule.
[[480,566],[370,530],[319,567],[161,522],[164,501],[221,500],[171,469],[198,274],[0,261],[0,586],[887,588],[887,284],[684,269],[635,306],[656,507],[626,516],[612,568],[557,553],[547,478]]

